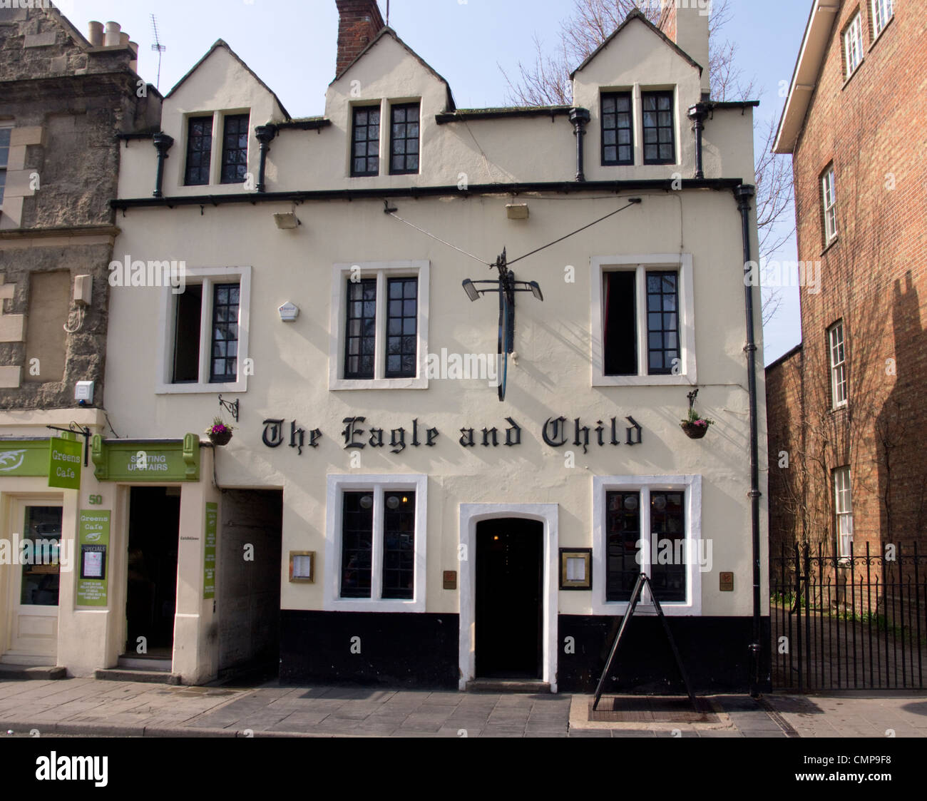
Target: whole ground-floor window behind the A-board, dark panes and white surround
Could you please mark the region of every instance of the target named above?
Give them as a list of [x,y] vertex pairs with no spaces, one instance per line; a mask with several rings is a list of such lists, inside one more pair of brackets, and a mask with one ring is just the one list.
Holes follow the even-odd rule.
[[700,537],[701,477],[595,477],[593,484],[598,611],[616,614],[616,605],[628,604],[641,572],[660,604],[700,605],[699,576],[711,569],[710,543]]

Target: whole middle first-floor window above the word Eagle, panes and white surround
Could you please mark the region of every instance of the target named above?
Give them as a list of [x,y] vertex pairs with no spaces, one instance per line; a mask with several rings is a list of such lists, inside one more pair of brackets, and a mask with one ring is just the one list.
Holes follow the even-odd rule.
[[426,388],[428,262],[335,267],[330,389]]

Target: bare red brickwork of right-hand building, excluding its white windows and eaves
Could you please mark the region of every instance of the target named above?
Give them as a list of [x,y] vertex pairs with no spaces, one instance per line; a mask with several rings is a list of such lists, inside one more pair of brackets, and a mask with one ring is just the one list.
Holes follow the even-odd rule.
[[[842,32],[863,16],[864,59],[846,78]],[[873,41],[869,3],[844,2],[794,151],[798,258],[819,261],[819,293],[801,290],[806,510],[832,509],[830,473],[849,465],[855,552],[887,543],[927,549],[927,194],[923,12],[895,4]],[[833,162],[838,235],[825,248],[819,176]],[[826,332],[844,321],[849,404],[832,411]],[[769,402],[770,415],[778,414]],[[779,421],[770,419],[770,437]],[[773,450],[770,442],[770,451]],[[775,471],[770,464],[770,490]],[[781,502],[773,495],[770,507]],[[812,519],[815,518],[811,515]],[[807,538],[830,542],[821,515]],[[774,537],[794,523],[780,520]]]

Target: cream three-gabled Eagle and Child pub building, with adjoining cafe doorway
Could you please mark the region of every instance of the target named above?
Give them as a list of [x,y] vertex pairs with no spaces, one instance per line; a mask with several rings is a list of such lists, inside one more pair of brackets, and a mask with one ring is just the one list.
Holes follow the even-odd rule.
[[324,116],[220,40],[122,144],[57,664],[588,692],[644,573],[607,690],[679,686],[654,596],[696,690],[765,687],[756,104],[710,98],[707,16],[465,109],[337,6]]

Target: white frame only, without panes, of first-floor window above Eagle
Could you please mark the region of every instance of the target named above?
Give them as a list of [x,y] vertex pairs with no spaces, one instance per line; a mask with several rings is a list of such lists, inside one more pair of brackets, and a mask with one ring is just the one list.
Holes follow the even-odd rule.
[[[376,278],[376,351],[373,378],[345,378],[345,321],[351,271],[360,267],[361,278]],[[329,325],[329,389],[427,389],[428,373],[428,273],[429,261],[353,261],[336,264],[332,272],[331,324]],[[387,278],[418,279],[416,315],[417,375],[387,378]]]

